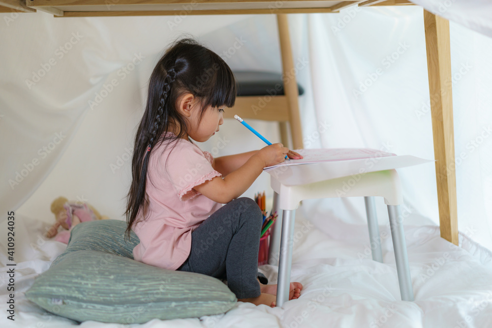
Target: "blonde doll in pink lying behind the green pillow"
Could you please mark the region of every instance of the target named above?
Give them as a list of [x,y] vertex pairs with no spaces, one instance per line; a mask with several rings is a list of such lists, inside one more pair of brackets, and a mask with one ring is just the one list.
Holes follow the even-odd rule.
[[[51,211],[55,214],[56,221],[45,234],[47,238],[53,238],[68,244],[70,232],[73,227],[81,222],[107,219],[101,216],[99,212],[91,205],[81,202],[68,202],[65,197],[59,197],[51,203]],[[59,227],[62,226],[62,232],[58,233]]]

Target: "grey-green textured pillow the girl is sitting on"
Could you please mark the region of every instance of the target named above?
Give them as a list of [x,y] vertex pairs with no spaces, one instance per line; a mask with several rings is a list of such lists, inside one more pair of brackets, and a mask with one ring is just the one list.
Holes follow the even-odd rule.
[[234,293],[216,278],[133,260],[139,240],[132,232],[125,242],[125,229],[120,220],[75,226],[65,251],[34,280],[26,297],[79,322],[121,324],[214,315],[235,306]]

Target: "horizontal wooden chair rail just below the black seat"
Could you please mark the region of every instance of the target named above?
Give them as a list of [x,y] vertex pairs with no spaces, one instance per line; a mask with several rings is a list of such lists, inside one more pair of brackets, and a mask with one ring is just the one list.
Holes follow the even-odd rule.
[[224,119],[234,119],[239,115],[243,119],[262,119],[269,121],[287,121],[287,97],[276,96],[241,96],[236,98],[233,108],[224,111]]

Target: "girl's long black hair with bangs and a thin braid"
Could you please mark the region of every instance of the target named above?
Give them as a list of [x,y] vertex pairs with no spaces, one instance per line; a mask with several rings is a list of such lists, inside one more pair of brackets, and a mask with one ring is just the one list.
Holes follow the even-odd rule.
[[[139,213],[143,219],[146,216],[148,201],[145,198],[145,186],[151,150],[167,139],[169,144],[176,145],[179,138],[183,138],[189,131],[187,120],[176,109],[178,97],[188,92],[200,102],[201,120],[210,105],[234,106],[236,80],[230,67],[217,54],[192,38],[183,38],[176,40],[166,50],[149,80],[147,106],[133,147],[132,181],[125,211],[125,239],[130,238],[130,231]],[[172,122],[174,130],[178,132],[176,136],[166,136],[167,131],[173,130],[169,129]]]

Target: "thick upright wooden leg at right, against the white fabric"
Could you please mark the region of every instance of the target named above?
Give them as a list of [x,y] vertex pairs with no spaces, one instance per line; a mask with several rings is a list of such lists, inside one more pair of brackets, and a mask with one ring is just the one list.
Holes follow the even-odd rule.
[[441,237],[458,245],[449,21],[424,10]]

